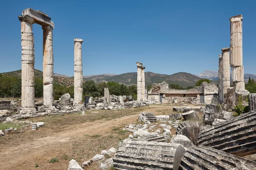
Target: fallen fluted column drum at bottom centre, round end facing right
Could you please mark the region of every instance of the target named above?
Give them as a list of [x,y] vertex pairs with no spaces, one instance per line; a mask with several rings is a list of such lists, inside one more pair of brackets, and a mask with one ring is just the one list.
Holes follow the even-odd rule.
[[128,141],[118,148],[113,165],[128,170],[177,170],[184,152],[181,144]]

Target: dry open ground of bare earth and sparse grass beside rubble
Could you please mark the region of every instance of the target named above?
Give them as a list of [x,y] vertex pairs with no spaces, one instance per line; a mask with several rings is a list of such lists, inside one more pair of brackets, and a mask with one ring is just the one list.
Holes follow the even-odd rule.
[[[87,111],[85,116],[74,113],[28,119],[45,122],[45,126],[36,131],[29,126],[24,132],[0,137],[0,170],[66,170],[71,159],[81,165],[102,150],[116,148],[131,134],[122,128],[137,123],[141,112],[169,115],[172,106],[150,105],[118,111]],[[52,158],[58,162],[49,163]]]

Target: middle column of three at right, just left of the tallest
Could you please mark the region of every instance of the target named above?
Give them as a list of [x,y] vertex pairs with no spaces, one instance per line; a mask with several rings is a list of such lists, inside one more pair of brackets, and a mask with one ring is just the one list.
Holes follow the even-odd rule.
[[230,48],[222,48],[222,75],[223,75],[223,94],[227,94],[230,88]]

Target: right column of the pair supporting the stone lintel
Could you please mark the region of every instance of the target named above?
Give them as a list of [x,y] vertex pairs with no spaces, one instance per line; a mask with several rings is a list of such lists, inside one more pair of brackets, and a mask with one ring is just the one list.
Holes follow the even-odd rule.
[[53,104],[53,48],[52,30],[54,24],[42,26],[43,28],[43,82],[44,82],[44,105]]

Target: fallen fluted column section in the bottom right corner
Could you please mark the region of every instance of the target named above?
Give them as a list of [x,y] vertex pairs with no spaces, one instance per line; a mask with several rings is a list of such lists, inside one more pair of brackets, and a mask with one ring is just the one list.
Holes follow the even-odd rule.
[[192,146],[184,153],[179,170],[255,170],[256,162],[211,147]]

